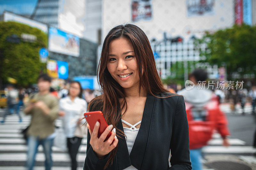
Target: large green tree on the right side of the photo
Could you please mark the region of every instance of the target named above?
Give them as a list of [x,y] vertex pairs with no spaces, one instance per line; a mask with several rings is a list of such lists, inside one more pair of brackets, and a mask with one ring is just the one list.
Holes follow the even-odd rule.
[[[234,25],[215,33],[206,32],[196,44],[200,56],[205,56],[204,62],[226,66],[228,80],[235,79],[233,74],[256,75],[256,26]],[[203,44],[207,45],[206,50],[201,50]]]

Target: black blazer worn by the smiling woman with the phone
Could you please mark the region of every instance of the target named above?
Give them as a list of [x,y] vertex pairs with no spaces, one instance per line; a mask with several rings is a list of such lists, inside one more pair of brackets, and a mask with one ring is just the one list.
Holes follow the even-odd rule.
[[[139,170],[170,169],[190,170],[188,120],[183,96],[164,92],[157,96],[176,95],[156,98],[150,93],[143,111],[138,135],[129,155],[125,138],[117,137],[117,152],[113,164],[108,170],[122,170],[133,165]],[[120,106],[119,106],[120,111]],[[121,120],[117,125],[123,129]],[[171,167],[168,158],[171,149]],[[101,170],[106,165],[109,153],[99,159],[90,145],[90,133],[87,136],[87,150],[84,170]]]

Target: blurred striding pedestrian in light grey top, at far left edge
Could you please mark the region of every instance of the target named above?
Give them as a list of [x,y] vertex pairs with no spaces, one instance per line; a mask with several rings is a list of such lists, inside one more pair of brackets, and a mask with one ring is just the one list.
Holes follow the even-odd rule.
[[[13,114],[14,110],[16,111],[17,105],[18,105],[18,95],[19,92],[16,88],[14,88],[14,85],[10,84],[7,85],[8,88],[8,94],[7,94],[7,111],[4,113],[3,120],[1,123],[5,122],[6,116],[9,114]],[[19,116],[19,122],[22,122],[22,118],[20,116],[20,112],[16,112],[16,114]]]

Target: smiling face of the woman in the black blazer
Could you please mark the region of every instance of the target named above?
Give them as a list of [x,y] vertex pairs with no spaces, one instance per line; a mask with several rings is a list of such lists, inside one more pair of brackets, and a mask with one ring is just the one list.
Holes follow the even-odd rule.
[[[107,68],[111,76],[123,88],[139,85],[140,79],[137,69],[136,57],[132,43],[129,39],[122,37],[110,42],[108,49]],[[119,75],[123,76],[123,78]]]

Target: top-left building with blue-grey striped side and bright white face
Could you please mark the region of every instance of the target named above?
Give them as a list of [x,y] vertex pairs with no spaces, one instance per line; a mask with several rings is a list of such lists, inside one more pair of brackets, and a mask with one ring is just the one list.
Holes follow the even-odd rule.
[[38,0],[31,18],[84,37],[85,0]]

